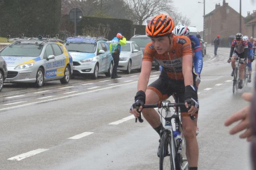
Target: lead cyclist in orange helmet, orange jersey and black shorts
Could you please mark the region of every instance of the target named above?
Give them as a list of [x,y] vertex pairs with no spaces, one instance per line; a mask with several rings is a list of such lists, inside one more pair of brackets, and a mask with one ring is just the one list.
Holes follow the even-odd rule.
[[[186,152],[190,169],[198,166],[198,142],[196,140],[196,121],[190,119],[190,115],[198,116],[198,97],[196,92],[196,76],[192,74],[192,49],[190,39],[186,36],[174,36],[174,21],[170,16],[160,14],[148,21],[146,33],[152,42],[144,49],[142,69],[138,79],[138,92],[131,111],[135,117],[140,114],[146,104],[157,103],[158,100],[166,100],[174,93],[178,96],[179,103],[185,103],[180,107],[182,114],[182,132],[186,139]],[[163,69],[159,78],[148,86],[152,61],[155,59]],[[188,107],[188,104],[191,107]],[[143,116],[148,123],[161,136],[164,127],[158,113],[154,109],[143,109]],[[159,147],[158,147],[159,150]],[[159,156],[159,152],[158,152]]]

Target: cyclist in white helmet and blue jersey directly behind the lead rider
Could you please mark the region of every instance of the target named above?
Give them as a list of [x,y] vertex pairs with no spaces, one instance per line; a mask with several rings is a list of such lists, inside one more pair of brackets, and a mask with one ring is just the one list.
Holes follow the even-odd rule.
[[[203,68],[203,56],[202,56],[202,48],[200,45],[200,40],[198,37],[189,35],[188,26],[184,24],[177,25],[173,31],[175,36],[188,36],[191,41],[192,52],[193,52],[193,66],[194,73],[196,74],[196,91],[198,90],[198,86],[200,83],[200,74]],[[196,135],[199,133],[197,123],[196,123]]]

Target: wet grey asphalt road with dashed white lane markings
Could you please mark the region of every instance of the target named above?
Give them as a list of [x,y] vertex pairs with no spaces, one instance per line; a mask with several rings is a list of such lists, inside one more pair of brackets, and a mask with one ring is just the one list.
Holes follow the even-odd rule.
[[[252,91],[248,84],[232,94],[229,50],[218,48],[219,56],[213,57],[213,48],[208,47],[204,57],[198,90],[200,170],[250,170],[249,143],[229,135],[231,127],[224,127],[228,116],[248,105],[241,94]],[[138,75],[76,78],[68,85],[54,81],[41,89],[4,85],[0,169],[158,169],[158,134],[146,121],[134,123],[128,113]],[[150,82],[158,75],[159,71],[152,72]]]

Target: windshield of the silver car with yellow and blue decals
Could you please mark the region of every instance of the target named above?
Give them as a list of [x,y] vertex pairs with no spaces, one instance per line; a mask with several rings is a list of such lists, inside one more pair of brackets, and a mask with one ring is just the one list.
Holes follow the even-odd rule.
[[0,52],[0,56],[38,57],[43,45],[37,44],[11,44]]

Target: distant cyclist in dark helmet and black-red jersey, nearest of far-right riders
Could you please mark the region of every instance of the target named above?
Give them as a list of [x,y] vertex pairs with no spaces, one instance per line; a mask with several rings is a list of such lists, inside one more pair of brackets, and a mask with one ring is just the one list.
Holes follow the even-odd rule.
[[[246,59],[248,45],[247,42],[243,40],[243,35],[241,33],[237,33],[235,36],[235,40],[233,40],[230,49],[230,55],[228,59],[228,63],[231,61],[231,67],[233,69],[231,76],[234,75],[234,69],[236,67],[236,60],[231,58],[240,57],[240,59]],[[244,62],[240,63],[240,75],[239,75],[239,83],[238,88],[243,88],[243,79],[244,79]]]

